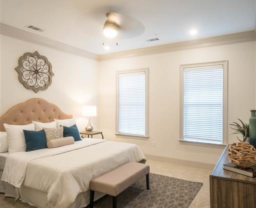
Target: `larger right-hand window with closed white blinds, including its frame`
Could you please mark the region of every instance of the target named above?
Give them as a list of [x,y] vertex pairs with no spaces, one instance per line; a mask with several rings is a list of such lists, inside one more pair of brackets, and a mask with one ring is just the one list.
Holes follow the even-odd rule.
[[227,61],[181,65],[181,139],[226,142]]

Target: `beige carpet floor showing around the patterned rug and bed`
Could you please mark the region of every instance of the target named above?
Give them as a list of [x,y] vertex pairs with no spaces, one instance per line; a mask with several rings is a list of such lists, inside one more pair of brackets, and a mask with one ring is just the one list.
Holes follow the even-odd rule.
[[[189,208],[209,208],[209,174],[210,170],[193,168],[188,166],[170,164],[148,160],[150,172],[166,175],[170,177],[180,178],[184,180],[196,181],[203,183],[202,187],[192,200]],[[0,194],[0,208],[23,208],[32,207],[21,201],[14,201],[13,198],[4,197]]]

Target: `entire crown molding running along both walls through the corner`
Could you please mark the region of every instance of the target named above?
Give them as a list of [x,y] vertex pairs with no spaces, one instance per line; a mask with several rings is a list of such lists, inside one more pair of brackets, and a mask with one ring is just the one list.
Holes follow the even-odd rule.
[[171,52],[177,50],[185,50],[199,47],[210,47],[216,45],[232,44],[239,42],[255,41],[255,31],[245,31],[239,33],[226,34],[221,36],[207,37],[201,39],[187,40],[182,42],[174,42],[163,45],[156,45],[151,47],[137,48],[132,50],[125,50],[120,52],[96,54],[78,47],[58,42],[47,37],[40,36],[22,29],[4,24],[0,22],[0,34],[24,40],[41,46],[49,47],[55,50],[67,52],[73,55],[90,58],[93,60],[112,60],[117,58],[126,58],[141,55],[150,55],[156,53]]

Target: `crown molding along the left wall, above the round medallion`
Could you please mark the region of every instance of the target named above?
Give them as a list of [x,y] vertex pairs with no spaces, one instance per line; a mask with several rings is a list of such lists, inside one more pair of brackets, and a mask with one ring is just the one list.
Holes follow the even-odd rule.
[[38,34],[27,32],[25,30],[18,29],[16,27],[13,27],[1,22],[0,22],[0,34],[13,37],[16,39],[24,40],[27,42],[31,42],[34,44],[38,44],[41,46],[49,47],[62,52],[67,52],[73,55],[78,55],[81,57],[98,60],[98,54],[95,54],[77,47],[73,47],[71,45],[58,42],[56,40],[52,40],[47,37],[40,36]]

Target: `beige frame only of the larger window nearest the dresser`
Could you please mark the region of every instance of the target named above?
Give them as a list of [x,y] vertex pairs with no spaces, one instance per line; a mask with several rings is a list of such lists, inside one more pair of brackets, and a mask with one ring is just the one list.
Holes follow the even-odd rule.
[[[184,128],[184,69],[193,68],[193,67],[203,67],[203,66],[212,66],[212,65],[222,65],[223,68],[223,89],[222,89],[222,142],[220,144],[211,143],[211,142],[203,142],[203,141],[188,141],[183,138],[183,128]],[[202,62],[202,63],[192,63],[192,64],[181,64],[179,67],[179,80],[180,80],[180,135],[179,139],[181,142],[186,142],[187,144],[199,144],[202,146],[218,146],[227,143],[227,87],[228,87],[228,61],[210,61],[210,62]]]

